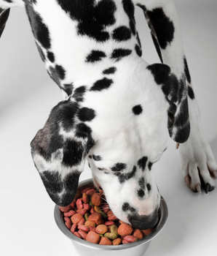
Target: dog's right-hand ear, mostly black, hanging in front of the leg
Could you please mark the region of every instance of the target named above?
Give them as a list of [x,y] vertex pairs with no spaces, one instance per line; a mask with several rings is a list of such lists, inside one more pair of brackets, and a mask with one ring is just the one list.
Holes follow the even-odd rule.
[[147,69],[165,95],[170,137],[177,143],[186,142],[190,134],[190,122],[185,75],[178,79],[165,64],[152,64]]

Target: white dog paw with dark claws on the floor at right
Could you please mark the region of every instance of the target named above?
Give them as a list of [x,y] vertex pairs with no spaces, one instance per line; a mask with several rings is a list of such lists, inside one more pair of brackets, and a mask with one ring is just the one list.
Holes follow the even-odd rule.
[[217,178],[217,165],[213,152],[206,140],[199,136],[189,137],[186,143],[176,146],[179,148],[181,170],[186,185],[194,192],[205,193],[215,189]]

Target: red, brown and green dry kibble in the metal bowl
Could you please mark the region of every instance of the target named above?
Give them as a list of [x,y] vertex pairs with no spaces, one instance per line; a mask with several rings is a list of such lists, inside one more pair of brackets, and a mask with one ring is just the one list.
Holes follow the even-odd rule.
[[60,207],[66,227],[74,236],[93,244],[129,244],[148,236],[153,230],[138,230],[117,219],[113,214],[103,190],[87,187],[76,193],[74,201]]

